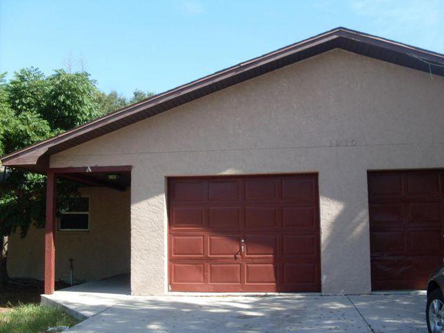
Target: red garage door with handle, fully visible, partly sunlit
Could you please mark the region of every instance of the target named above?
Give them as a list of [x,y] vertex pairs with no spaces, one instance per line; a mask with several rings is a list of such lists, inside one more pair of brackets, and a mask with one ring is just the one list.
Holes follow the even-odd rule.
[[171,291],[320,291],[316,175],[169,178]]

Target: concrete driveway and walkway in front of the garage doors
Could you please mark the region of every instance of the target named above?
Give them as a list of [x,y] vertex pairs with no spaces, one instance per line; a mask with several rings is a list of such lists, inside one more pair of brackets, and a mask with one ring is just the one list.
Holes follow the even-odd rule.
[[[123,282],[122,282],[123,283]],[[91,292],[93,291],[93,292]],[[119,291],[119,292],[118,292]],[[425,293],[370,296],[129,296],[92,282],[43,302],[79,318],[70,333],[426,332]]]

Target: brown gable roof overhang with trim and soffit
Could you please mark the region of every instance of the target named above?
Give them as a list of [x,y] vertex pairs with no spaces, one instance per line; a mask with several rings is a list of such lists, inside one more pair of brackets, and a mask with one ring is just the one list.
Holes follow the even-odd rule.
[[0,162],[5,166],[45,173],[49,167],[49,156],[54,153],[65,151],[231,85],[336,48],[444,76],[444,55],[441,53],[339,27],[106,114],[56,137],[5,155],[0,158]]

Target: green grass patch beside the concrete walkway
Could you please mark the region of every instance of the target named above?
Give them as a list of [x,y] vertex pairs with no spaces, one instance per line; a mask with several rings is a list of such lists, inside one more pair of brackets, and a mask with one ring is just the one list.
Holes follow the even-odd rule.
[[43,333],[49,327],[71,327],[76,323],[62,309],[26,304],[0,314],[0,333]]

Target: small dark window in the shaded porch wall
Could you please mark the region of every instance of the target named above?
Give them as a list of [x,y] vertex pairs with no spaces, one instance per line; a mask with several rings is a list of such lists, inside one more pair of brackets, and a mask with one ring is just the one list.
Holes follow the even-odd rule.
[[89,230],[89,198],[87,196],[69,200],[68,210],[60,214],[58,230]]

